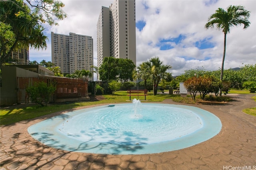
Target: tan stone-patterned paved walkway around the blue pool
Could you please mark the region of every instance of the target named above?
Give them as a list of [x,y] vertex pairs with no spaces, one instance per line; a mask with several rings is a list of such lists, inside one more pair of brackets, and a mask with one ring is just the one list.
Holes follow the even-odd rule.
[[[244,108],[256,107],[252,96],[255,94],[233,94],[234,101],[228,104],[191,105],[218,116],[222,121],[220,133],[198,145],[157,154],[69,152],[47,147],[28,134],[29,126],[60,112],[1,126],[0,170],[255,170],[256,117],[242,112]],[[172,100],[161,103],[178,104]]]

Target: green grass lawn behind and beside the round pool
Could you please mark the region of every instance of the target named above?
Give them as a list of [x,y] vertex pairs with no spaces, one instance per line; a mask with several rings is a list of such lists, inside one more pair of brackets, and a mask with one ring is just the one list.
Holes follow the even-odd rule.
[[[168,90],[165,91],[168,93]],[[230,90],[230,93],[239,93],[239,94],[250,94],[250,92],[246,90],[240,90],[237,92],[237,90]],[[18,121],[32,119],[35,117],[39,117],[42,115],[48,115],[50,113],[54,113],[57,111],[63,111],[67,109],[73,109],[76,107],[82,107],[82,106],[90,106],[90,105],[96,105],[96,104],[108,104],[108,103],[120,103],[120,102],[131,102],[129,100],[129,97],[127,96],[126,91],[118,91],[115,94],[107,94],[103,95],[104,100],[96,101],[96,102],[65,102],[65,103],[54,103],[50,104],[47,107],[41,107],[40,105],[31,105],[31,106],[24,106],[22,105],[16,105],[13,107],[8,107],[5,109],[0,109],[0,125],[9,125],[12,123],[16,123]],[[131,99],[137,99],[137,96],[132,96]],[[139,96],[139,99],[143,102],[162,102],[165,99],[170,99],[174,102],[180,102],[180,103],[187,103],[187,104],[196,104],[194,102],[190,95],[188,95],[188,98],[182,98],[180,95],[169,95],[169,94],[157,94],[156,96],[153,95],[153,92],[148,92],[148,96],[146,96],[146,101],[144,101],[144,96]],[[256,96],[254,97],[254,100],[256,100]],[[22,107],[22,108],[19,108]],[[243,110],[245,113],[248,113],[250,115],[256,115],[256,107],[249,108],[248,110]]]

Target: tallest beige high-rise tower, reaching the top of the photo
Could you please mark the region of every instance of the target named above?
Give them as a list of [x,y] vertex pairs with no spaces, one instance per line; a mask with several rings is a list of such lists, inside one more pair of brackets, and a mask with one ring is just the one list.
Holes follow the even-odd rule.
[[102,6],[97,23],[98,67],[104,57],[130,59],[136,65],[135,0]]

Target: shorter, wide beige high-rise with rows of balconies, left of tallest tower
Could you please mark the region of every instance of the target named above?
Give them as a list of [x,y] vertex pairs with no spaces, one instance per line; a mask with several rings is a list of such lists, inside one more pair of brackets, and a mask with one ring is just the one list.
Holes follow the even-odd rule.
[[[52,63],[59,66],[62,73],[72,74],[76,70],[93,72],[93,39],[91,36],[69,33],[51,33]],[[88,78],[93,81],[92,78]]]

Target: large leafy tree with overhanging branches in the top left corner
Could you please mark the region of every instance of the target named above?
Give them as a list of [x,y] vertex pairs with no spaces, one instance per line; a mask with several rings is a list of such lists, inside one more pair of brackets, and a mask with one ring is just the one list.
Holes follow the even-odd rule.
[[[64,4],[58,0],[1,0],[0,1],[0,55],[1,64],[8,61],[14,50],[25,47],[46,49],[44,23],[57,24],[64,19]],[[31,7],[31,9],[30,9]],[[54,18],[54,19],[53,19]]]

